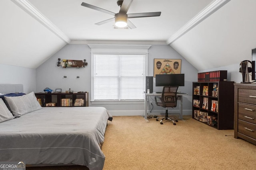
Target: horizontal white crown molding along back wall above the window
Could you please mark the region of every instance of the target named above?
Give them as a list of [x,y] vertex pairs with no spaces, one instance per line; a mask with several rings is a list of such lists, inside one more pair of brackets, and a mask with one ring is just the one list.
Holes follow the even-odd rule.
[[70,44],[167,45],[166,41],[72,40]]

